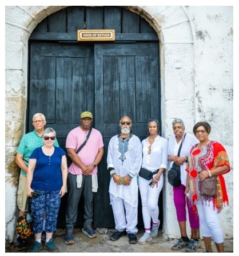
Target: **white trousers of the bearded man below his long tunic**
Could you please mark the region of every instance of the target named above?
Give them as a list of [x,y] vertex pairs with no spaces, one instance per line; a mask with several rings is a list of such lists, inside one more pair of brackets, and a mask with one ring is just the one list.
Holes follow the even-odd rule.
[[[130,196],[130,195],[129,195]],[[115,222],[115,230],[136,234],[138,232],[138,207],[133,207],[122,198],[115,198],[110,194],[110,204],[112,206]]]

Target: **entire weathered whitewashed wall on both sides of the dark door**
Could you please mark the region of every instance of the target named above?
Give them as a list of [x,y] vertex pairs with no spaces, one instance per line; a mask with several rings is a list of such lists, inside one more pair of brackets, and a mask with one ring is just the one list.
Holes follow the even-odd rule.
[[[15,151],[25,132],[27,41],[45,17],[66,6],[6,6],[5,242],[15,238],[18,169]],[[192,133],[197,121],[212,125],[210,139],[224,144],[233,168],[233,8],[227,6],[124,6],[144,17],[160,38],[162,135],[172,120]],[[165,175],[166,176],[166,175]],[[220,214],[233,238],[233,171],[225,175],[230,205]],[[165,179],[164,235],[180,237],[172,187]]]

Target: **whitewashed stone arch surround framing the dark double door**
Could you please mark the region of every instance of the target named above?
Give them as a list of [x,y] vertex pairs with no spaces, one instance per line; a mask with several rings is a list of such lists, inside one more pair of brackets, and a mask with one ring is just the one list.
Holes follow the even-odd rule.
[[[17,211],[18,168],[15,151],[25,132],[27,100],[27,45],[35,26],[48,15],[66,6],[6,6],[6,242],[13,242]],[[182,117],[186,123],[194,116],[193,36],[189,18],[181,6],[124,6],[137,13],[156,30],[161,48],[162,136],[171,134],[171,121]],[[185,92],[189,95],[184,99]],[[174,108],[177,102],[177,108]],[[187,107],[185,111],[185,106]],[[173,114],[172,114],[173,113]],[[173,116],[172,116],[173,115]],[[172,190],[165,184],[164,231],[176,237]]]

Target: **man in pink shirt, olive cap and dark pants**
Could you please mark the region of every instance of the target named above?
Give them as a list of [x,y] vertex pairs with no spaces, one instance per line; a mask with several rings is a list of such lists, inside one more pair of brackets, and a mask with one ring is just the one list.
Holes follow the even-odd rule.
[[[69,132],[66,138],[67,155],[72,163],[67,176],[67,206],[66,206],[66,245],[74,243],[73,231],[77,220],[78,203],[83,193],[84,219],[82,232],[89,238],[97,235],[92,227],[93,222],[93,192],[97,192],[97,164],[103,156],[103,138],[101,133],[91,128],[92,113],[81,113],[81,125]],[[87,138],[88,133],[90,135]],[[82,149],[77,149],[86,141]]]

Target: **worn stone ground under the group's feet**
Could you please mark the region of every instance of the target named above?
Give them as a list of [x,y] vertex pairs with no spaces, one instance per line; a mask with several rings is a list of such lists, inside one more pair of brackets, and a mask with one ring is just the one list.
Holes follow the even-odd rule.
[[[96,238],[88,238],[84,235],[79,228],[74,230],[74,244],[65,245],[64,235],[65,229],[58,229],[54,234],[55,246],[58,247],[59,253],[185,253],[186,250],[172,251],[171,247],[177,242],[177,239],[167,239],[162,234],[162,231],[158,234],[158,237],[153,238],[153,241],[146,243],[145,245],[130,245],[128,242],[128,236],[120,238],[118,241],[111,241],[110,235],[114,233],[114,229],[109,229],[106,234],[99,234],[98,231]],[[137,233],[139,239],[144,234],[144,230],[141,229]],[[29,238],[29,249],[21,251],[21,253],[29,253],[30,247],[34,242],[34,238]],[[200,241],[200,247],[196,251],[202,253],[205,250],[204,242]],[[213,243],[213,251],[217,251]],[[225,241],[225,251],[233,253],[233,239],[227,239]],[[46,250],[41,250],[41,253],[47,253]],[[5,245],[5,253],[18,253],[15,245]]]

